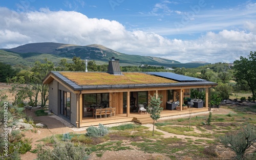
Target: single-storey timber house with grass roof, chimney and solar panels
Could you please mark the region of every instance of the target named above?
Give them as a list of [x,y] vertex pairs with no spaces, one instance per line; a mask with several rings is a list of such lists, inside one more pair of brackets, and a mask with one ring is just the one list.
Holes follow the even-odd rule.
[[[151,119],[148,114],[138,113],[138,106],[146,107],[149,95],[155,93],[162,95],[162,117],[189,113],[182,104],[184,97],[190,97],[191,88],[205,90],[204,107],[193,108],[193,112],[208,111],[209,88],[217,85],[167,72],[124,73],[115,59],[109,61],[108,72],[50,72],[43,83],[49,85],[49,109],[76,127],[139,122],[140,116],[144,121]],[[179,110],[167,110],[167,101],[179,101]],[[112,108],[115,114],[108,117],[100,112],[98,116],[99,108]]]

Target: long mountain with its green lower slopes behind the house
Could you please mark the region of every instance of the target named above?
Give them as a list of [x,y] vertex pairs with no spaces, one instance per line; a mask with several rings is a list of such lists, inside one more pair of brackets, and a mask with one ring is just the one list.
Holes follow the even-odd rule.
[[[42,42],[42,43],[29,43],[20,45],[19,47],[12,49],[0,50],[0,57],[4,57],[6,63],[24,64],[24,61],[30,65],[36,60],[42,60],[48,58],[54,63],[58,63],[60,59],[67,58],[71,61],[72,57],[80,57],[81,59],[95,60],[99,64],[107,63],[111,57],[115,57],[120,60],[121,65],[159,65],[166,67],[198,67],[208,63],[180,63],[175,60],[169,60],[151,56],[139,56],[139,55],[128,55],[120,52],[116,52],[109,48],[99,44],[91,44],[86,46],[53,43],[53,42]],[[13,61],[15,59],[15,61]],[[16,63],[15,63],[16,62]]]

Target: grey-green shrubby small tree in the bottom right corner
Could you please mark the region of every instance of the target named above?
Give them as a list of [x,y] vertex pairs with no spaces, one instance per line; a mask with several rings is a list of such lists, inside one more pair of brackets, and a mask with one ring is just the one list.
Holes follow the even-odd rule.
[[256,141],[256,127],[246,123],[239,131],[220,137],[221,143],[236,152],[236,159],[243,159],[246,149]]

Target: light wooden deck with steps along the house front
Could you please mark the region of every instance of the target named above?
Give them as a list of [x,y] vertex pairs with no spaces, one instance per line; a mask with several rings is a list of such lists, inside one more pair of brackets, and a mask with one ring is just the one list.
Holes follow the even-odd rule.
[[[185,115],[189,113],[197,113],[208,111],[208,108],[188,108],[186,110],[166,110],[164,109],[161,112],[160,117],[170,117],[177,115]],[[83,118],[80,123],[80,127],[96,126],[100,124],[113,124],[113,123],[123,123],[123,122],[136,122],[138,124],[152,124],[153,120],[150,117],[150,114],[145,113],[130,113],[130,117],[126,117],[126,114],[116,115],[116,117],[107,117],[107,118]]]

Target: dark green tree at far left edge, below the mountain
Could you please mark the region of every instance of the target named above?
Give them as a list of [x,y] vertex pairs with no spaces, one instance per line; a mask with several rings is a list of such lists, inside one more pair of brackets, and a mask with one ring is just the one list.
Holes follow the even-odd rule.
[[7,78],[12,78],[18,73],[18,70],[12,68],[10,64],[0,62],[0,82],[7,82]]

